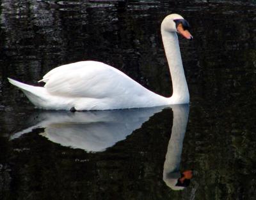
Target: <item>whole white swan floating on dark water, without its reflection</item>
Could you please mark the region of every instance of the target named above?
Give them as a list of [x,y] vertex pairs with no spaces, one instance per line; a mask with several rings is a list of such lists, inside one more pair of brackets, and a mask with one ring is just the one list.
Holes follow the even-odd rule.
[[177,32],[186,39],[193,36],[189,24],[178,14],[164,18],[161,24],[164,50],[172,76],[172,97],[163,97],[146,89],[118,69],[97,61],[66,64],[49,71],[35,87],[8,78],[31,103],[51,110],[114,110],[189,103],[189,91]]

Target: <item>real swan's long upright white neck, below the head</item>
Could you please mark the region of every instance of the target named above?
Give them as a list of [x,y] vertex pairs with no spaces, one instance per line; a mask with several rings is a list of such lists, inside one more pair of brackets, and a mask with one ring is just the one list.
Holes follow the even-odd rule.
[[189,92],[184,69],[182,65],[179,40],[176,32],[168,32],[161,29],[164,50],[172,76],[173,94],[171,103],[189,103]]

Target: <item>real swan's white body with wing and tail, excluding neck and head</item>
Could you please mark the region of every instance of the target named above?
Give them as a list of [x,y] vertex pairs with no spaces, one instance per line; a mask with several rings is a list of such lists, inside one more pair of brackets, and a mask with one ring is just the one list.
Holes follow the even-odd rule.
[[39,108],[111,110],[168,104],[168,98],[145,89],[129,76],[102,62],[83,61],[52,69],[44,87],[17,85]]

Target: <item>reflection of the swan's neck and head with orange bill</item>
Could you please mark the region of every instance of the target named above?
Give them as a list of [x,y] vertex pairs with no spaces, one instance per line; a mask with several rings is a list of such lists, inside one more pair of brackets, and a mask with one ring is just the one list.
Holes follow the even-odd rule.
[[183,139],[188,124],[189,105],[172,106],[172,110],[172,134],[164,161],[163,180],[171,189],[182,190],[189,185],[192,178],[191,170],[186,170],[182,173],[179,170]]

